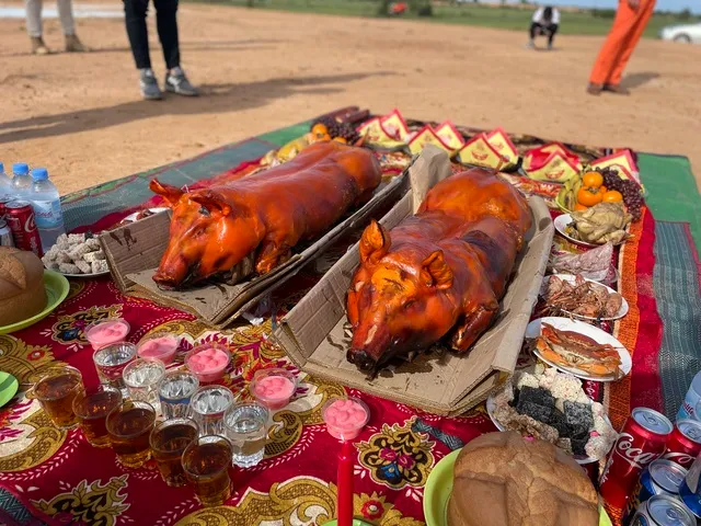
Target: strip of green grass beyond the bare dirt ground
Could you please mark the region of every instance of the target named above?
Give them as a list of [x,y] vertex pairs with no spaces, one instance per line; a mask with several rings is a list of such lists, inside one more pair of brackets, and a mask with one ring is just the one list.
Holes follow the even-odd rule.
[[[249,0],[191,0],[220,5],[248,7]],[[292,11],[300,13],[335,14],[346,16],[376,18],[380,9],[379,1],[370,0],[252,0],[254,9],[274,11]],[[533,8],[535,10],[536,8]],[[531,10],[517,9],[508,5],[494,8],[475,3],[434,4],[433,16],[417,16],[407,13],[402,19],[423,20],[441,24],[475,25],[526,32],[530,25]],[[665,25],[698,21],[698,18],[682,21],[678,14],[653,15],[645,37],[656,38],[659,30]],[[577,13],[562,13],[560,32],[565,35],[605,35],[612,22],[611,11],[587,11]]]

